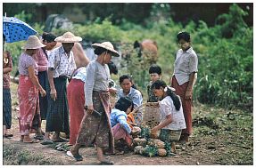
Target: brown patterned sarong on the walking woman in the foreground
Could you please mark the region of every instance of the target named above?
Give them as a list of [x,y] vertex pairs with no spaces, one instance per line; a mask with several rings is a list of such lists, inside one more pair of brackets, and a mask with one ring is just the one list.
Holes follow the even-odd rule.
[[97,117],[91,114],[84,116],[78,132],[77,143],[89,146],[95,143],[98,147],[109,148],[114,151],[114,139],[111,130],[111,104],[109,92],[93,92],[93,103],[96,111],[102,116]]

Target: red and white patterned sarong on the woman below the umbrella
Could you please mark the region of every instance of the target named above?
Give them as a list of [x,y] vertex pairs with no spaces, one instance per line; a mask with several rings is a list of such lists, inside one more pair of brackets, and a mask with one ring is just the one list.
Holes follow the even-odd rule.
[[37,132],[38,128],[41,128],[38,90],[29,76],[20,76],[18,96],[21,135],[29,135],[29,132]]

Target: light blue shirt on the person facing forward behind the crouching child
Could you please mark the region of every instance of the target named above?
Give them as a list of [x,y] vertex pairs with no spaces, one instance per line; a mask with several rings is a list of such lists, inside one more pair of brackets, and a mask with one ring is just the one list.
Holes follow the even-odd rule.
[[130,88],[128,95],[124,94],[123,89],[119,90],[118,99],[120,99],[120,97],[126,97],[126,96],[128,96],[133,101],[134,108],[139,107],[143,103],[141,92],[139,92],[138,90],[132,87]]

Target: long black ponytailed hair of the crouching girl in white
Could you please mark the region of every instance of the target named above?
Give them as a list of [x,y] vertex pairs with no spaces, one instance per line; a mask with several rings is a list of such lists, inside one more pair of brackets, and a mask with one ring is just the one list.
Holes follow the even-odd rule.
[[[167,85],[166,85],[165,82],[162,81],[162,80],[156,80],[156,81],[152,84],[151,89],[152,89],[152,90],[153,90],[153,89],[160,89],[160,87],[165,88],[165,87],[167,87]],[[179,109],[180,109],[180,106],[181,106],[181,102],[180,102],[180,100],[178,99],[177,94],[176,94],[175,92],[172,92],[168,87],[167,87],[167,92],[166,92],[166,93],[167,93],[167,95],[173,100],[173,104],[174,104],[175,108],[176,108],[177,110],[179,110]]]

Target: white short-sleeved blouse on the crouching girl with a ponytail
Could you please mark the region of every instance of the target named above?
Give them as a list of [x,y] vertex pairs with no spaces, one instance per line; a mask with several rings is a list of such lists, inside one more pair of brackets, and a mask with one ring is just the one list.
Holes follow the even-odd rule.
[[173,104],[173,100],[169,96],[161,100],[159,102],[159,105],[160,123],[166,119],[166,116],[171,115],[171,123],[166,125],[162,129],[182,130],[186,128],[182,105],[180,106],[179,110],[177,110]]

